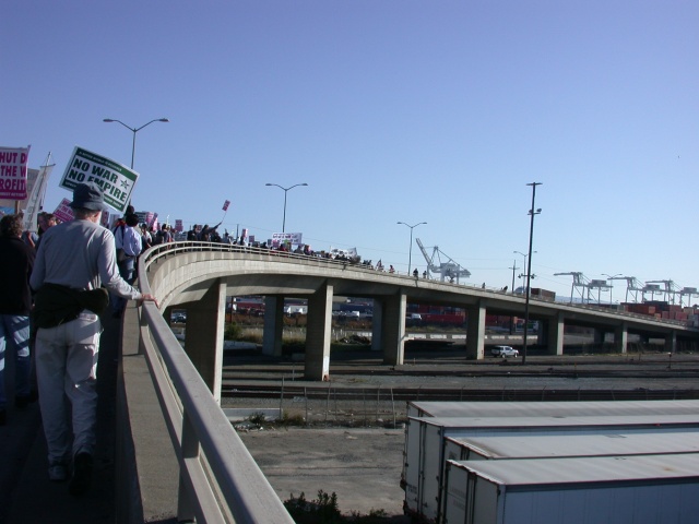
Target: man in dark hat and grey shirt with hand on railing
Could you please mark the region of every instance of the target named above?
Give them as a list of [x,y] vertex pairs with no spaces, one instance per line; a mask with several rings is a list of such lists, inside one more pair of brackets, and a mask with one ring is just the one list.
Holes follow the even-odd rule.
[[79,183],[70,205],[75,219],[44,234],[29,284],[36,291],[36,371],[49,478],[66,480],[72,458],[69,492],[78,496],[90,489],[92,479],[102,333],[98,315],[109,302],[100,286],[140,302],[155,298],[141,294],[119,275],[114,235],[99,225],[106,209],[99,187]]

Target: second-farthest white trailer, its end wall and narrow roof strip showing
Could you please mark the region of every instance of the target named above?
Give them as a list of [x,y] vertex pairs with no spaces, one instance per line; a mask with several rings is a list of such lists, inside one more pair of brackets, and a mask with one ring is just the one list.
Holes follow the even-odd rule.
[[410,417],[405,429],[402,485],[405,510],[437,519],[448,437],[505,437],[508,434],[626,434],[699,431],[698,415],[542,416],[542,417]]

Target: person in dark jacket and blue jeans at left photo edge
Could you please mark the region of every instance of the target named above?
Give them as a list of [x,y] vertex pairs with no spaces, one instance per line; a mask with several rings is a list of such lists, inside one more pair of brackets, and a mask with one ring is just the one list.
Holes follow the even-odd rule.
[[5,424],[4,359],[14,353],[14,405],[35,400],[29,386],[29,276],[34,249],[22,240],[22,216],[5,215],[0,221],[0,426]]

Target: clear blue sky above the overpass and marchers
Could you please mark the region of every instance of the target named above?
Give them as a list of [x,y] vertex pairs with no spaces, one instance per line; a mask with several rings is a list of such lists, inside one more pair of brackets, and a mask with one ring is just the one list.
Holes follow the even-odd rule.
[[[699,287],[694,0],[8,0],[0,146],[130,165],[137,211],[465,283]],[[232,204],[222,210],[225,200]],[[398,224],[415,225],[413,229]],[[411,231],[413,245],[411,246]],[[412,247],[412,254],[411,254]],[[437,261],[437,258],[435,258]],[[513,271],[512,267],[516,267]],[[614,281],[602,299],[625,298]],[[514,286],[522,281],[514,278]],[[576,294],[578,290],[576,290]],[[696,299],[694,299],[696,301]]]

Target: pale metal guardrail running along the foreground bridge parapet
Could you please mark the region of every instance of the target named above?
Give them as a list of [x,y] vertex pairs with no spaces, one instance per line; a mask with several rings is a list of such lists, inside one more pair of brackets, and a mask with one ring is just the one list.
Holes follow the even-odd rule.
[[[167,252],[141,257],[139,275]],[[140,286],[151,293],[147,278]],[[293,523],[162,312],[144,302],[140,314],[141,344],[180,464],[178,521]]]

